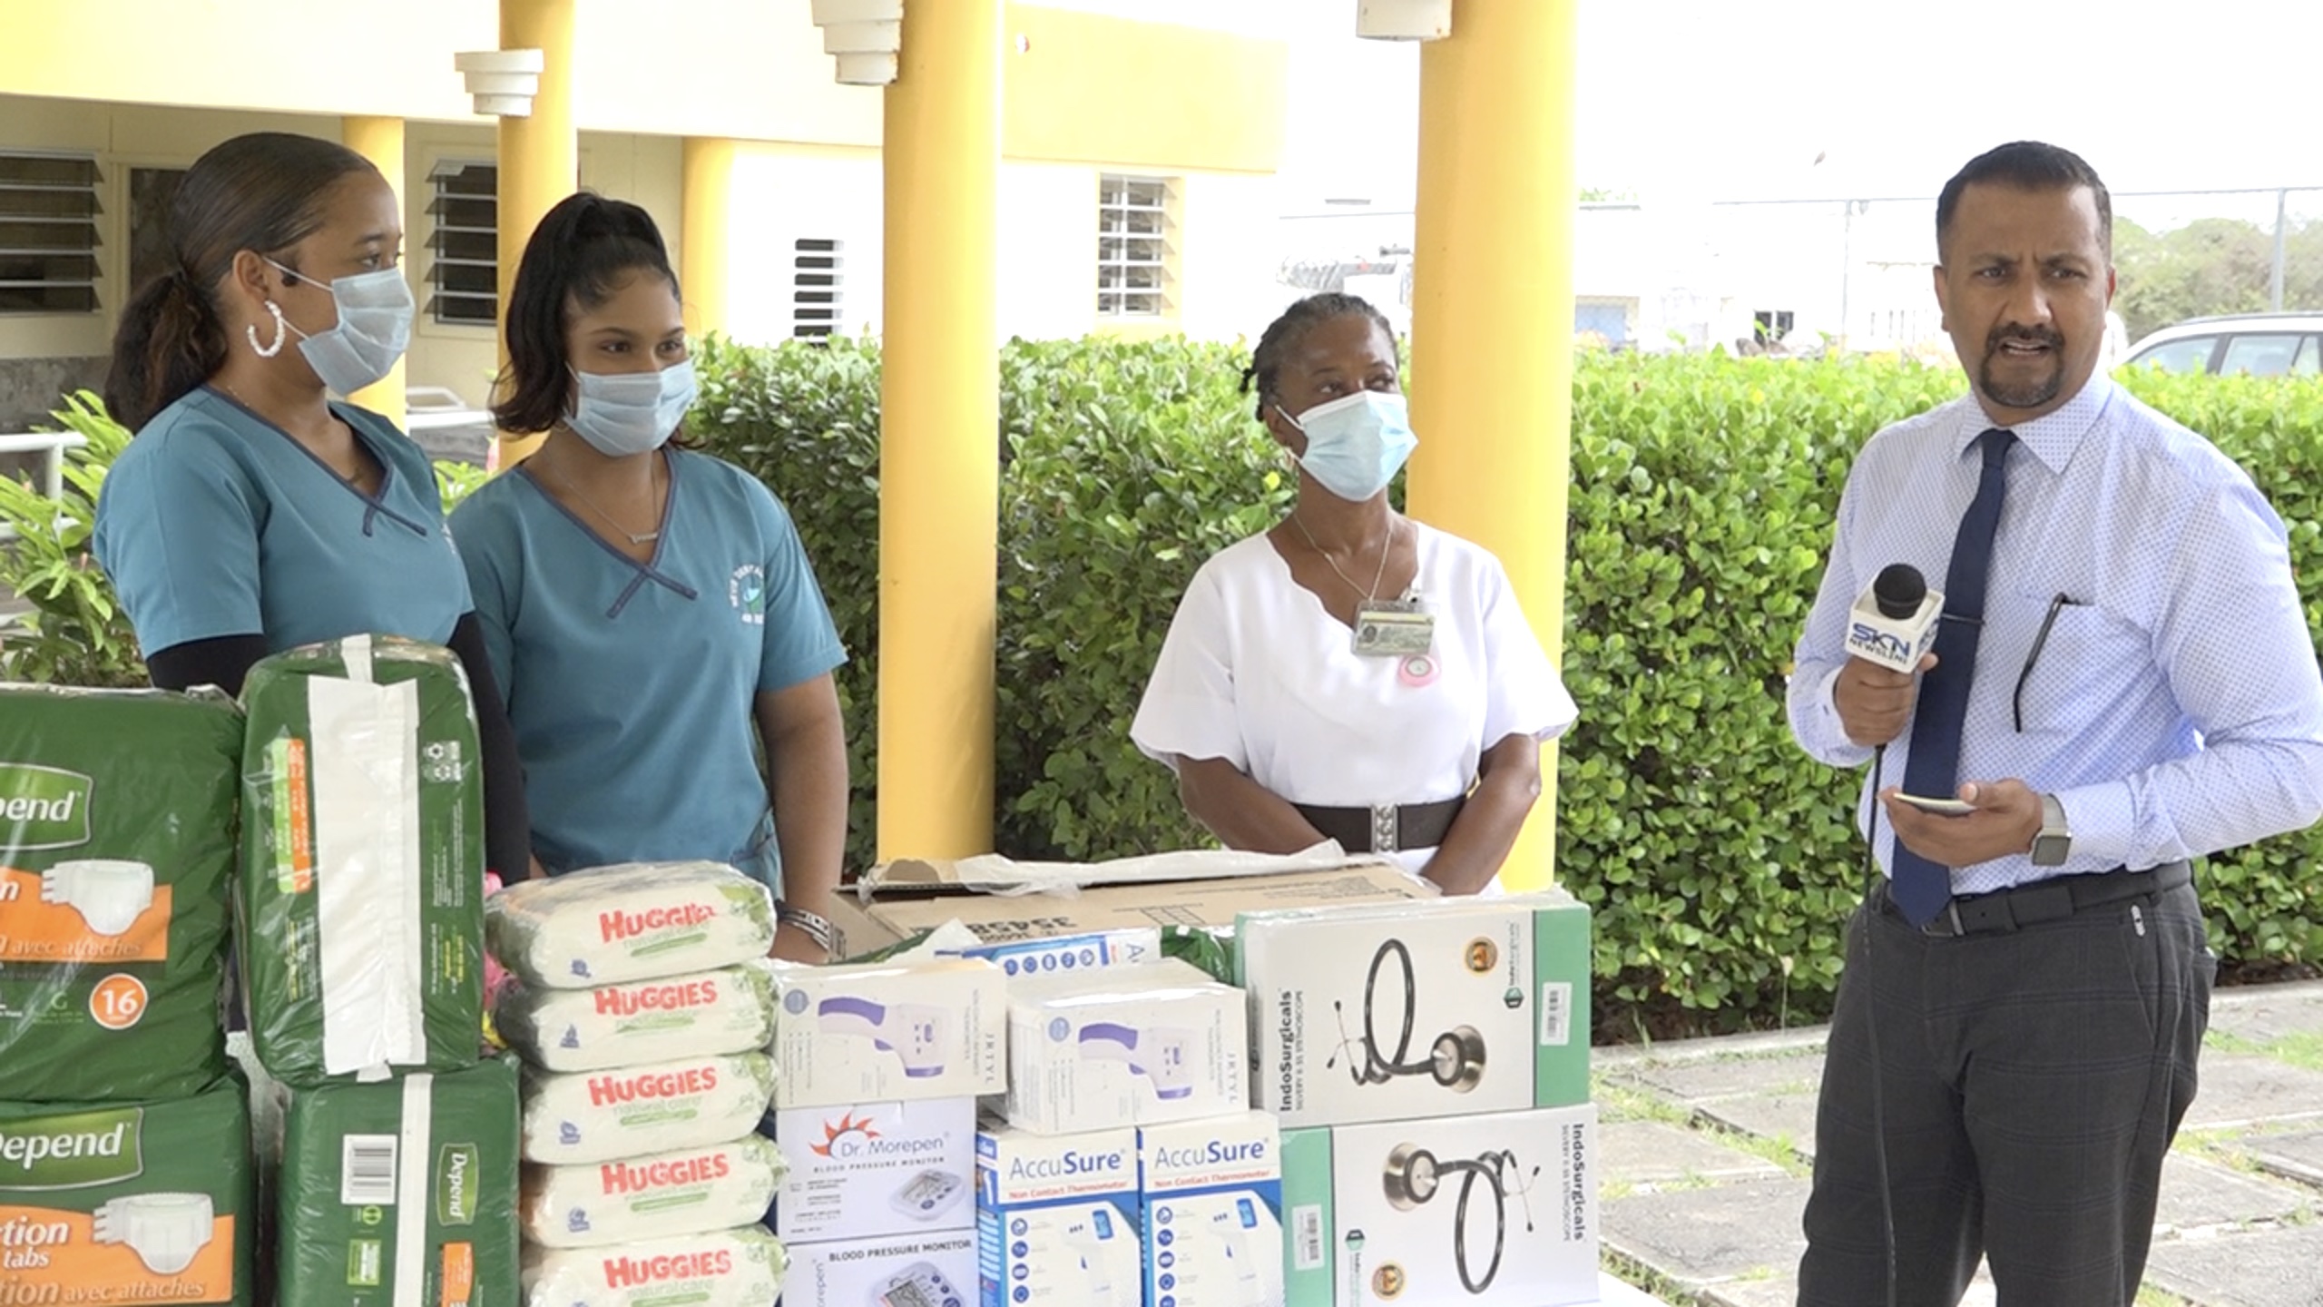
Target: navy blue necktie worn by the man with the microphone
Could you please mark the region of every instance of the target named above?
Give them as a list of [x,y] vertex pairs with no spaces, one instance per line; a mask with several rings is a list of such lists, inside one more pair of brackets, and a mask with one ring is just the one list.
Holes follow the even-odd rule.
[[[1986,430],[1984,477],[1977,498],[1961,514],[1961,533],[1951,537],[1951,565],[1944,570],[1944,621],[1935,633],[1935,667],[1919,679],[1919,709],[1912,716],[1912,760],[1903,770],[1903,791],[1951,798],[1961,786],[1961,723],[1968,721],[1968,681],[1977,672],[1977,640],[1984,635],[1984,581],[1993,570],[1993,530],[2000,526],[2000,498],[2007,493],[2009,449],[2014,430]],[[1951,900],[1951,867],[1896,842],[1889,895],[1912,926],[1935,921]]]

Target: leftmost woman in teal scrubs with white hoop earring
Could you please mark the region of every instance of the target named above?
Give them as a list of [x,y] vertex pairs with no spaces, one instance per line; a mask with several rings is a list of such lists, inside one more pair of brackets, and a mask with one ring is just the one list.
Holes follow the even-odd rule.
[[411,337],[395,193],[335,142],[256,133],[193,163],[170,267],[121,312],[105,402],[137,430],[105,477],[93,549],[153,684],[242,693],[251,663],[402,635],[467,667],[488,870],[523,877],[527,816],[434,467],[346,395]]

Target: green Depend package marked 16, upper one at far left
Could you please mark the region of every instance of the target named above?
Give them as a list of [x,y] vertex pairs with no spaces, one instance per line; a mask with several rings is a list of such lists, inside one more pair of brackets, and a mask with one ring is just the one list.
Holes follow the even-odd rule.
[[188,1098],[218,988],[242,712],[216,691],[0,686],[0,1100]]

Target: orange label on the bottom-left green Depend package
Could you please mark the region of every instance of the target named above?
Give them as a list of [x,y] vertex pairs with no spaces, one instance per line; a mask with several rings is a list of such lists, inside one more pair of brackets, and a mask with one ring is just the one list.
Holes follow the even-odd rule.
[[[0,1207],[0,1302],[230,1302],[235,1219],[163,1193],[88,1212]],[[100,1237],[102,1235],[102,1237]]]

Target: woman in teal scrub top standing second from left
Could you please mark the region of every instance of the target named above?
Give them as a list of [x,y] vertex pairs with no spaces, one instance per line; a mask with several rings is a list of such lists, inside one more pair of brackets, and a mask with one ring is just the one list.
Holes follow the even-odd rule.
[[551,874],[734,863],[776,888],[774,954],[822,960],[846,651],[783,505],[678,437],[695,365],[653,219],[590,193],[551,209],[506,330],[492,416],[548,440],[453,533],[509,691],[534,856]]

